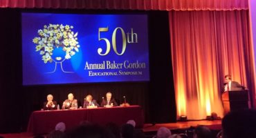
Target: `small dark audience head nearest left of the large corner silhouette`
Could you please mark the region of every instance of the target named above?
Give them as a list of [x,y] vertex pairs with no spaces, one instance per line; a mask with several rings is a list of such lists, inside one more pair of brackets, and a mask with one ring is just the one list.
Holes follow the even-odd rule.
[[196,126],[194,129],[194,138],[210,138],[212,137],[212,133],[210,129],[206,126]]

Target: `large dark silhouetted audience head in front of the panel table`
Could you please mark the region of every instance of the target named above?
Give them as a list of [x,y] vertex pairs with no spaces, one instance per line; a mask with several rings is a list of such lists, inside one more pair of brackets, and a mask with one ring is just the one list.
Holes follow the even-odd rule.
[[109,130],[97,126],[94,124],[82,125],[73,128],[66,132],[64,138],[84,138],[84,137],[92,137],[92,138],[113,138],[114,135],[109,132]]

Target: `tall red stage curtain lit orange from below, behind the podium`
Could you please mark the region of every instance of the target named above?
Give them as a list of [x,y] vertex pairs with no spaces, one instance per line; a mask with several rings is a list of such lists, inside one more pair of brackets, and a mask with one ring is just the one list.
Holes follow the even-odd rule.
[[255,100],[248,10],[170,11],[177,117],[223,116],[224,75],[246,86]]

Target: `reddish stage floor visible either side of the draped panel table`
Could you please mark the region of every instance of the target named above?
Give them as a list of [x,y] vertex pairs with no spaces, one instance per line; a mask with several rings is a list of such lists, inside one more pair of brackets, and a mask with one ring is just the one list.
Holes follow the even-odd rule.
[[[185,130],[190,127],[196,127],[198,125],[208,126],[211,130],[221,130],[221,120],[201,120],[201,121],[177,121],[176,123],[167,124],[144,124],[143,132],[147,135],[154,135],[158,128],[164,126],[169,128],[171,131]],[[21,132],[12,134],[0,134],[0,136],[5,138],[33,138],[31,133]]]

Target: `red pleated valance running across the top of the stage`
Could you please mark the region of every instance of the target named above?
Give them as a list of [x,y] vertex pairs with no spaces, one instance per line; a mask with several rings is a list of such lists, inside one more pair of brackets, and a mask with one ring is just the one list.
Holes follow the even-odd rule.
[[241,10],[248,9],[248,0],[1,0],[0,8]]

